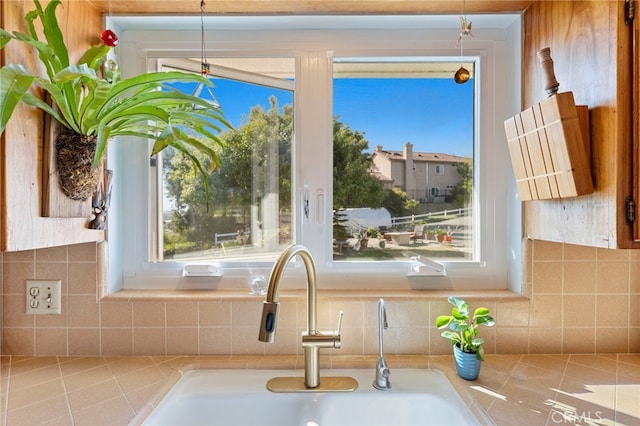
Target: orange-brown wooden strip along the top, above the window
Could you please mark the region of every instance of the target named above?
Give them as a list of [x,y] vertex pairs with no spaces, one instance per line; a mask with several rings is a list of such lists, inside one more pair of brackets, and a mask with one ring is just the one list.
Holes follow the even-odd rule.
[[[203,0],[206,13],[500,13],[522,12],[536,0]],[[107,14],[195,14],[201,0],[88,0]]]

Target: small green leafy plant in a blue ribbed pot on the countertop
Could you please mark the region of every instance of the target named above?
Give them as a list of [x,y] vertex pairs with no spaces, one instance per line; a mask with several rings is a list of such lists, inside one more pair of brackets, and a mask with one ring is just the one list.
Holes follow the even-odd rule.
[[478,327],[491,327],[496,322],[485,307],[476,308],[471,316],[469,305],[463,299],[450,296],[448,301],[453,305],[451,315],[438,316],[436,327],[449,328],[442,332],[442,337],[453,345],[458,375],[466,380],[475,380],[484,361],[484,339],[478,337]]

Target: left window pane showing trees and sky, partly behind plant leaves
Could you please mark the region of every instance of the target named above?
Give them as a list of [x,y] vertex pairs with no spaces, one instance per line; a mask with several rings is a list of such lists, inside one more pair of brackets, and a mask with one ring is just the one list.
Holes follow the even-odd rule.
[[[209,203],[200,175],[179,153],[162,158],[164,260],[261,258],[293,241],[291,144],[293,60],[281,82],[269,76],[265,59],[235,58],[217,68],[210,60],[215,98],[234,127],[221,134],[220,167],[209,177]],[[222,63],[222,60],[219,61]],[[225,60],[225,66],[229,61]],[[223,76],[220,76],[223,74]],[[273,84],[270,85],[270,81]],[[287,89],[290,87],[291,89]],[[193,93],[195,87],[181,87]]]

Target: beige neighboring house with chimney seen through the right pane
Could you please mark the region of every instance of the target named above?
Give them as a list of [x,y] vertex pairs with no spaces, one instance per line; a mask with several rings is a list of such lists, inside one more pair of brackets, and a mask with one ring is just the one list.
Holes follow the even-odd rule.
[[421,203],[444,202],[462,178],[457,165],[466,160],[450,154],[413,152],[411,142],[404,144],[402,151],[386,151],[378,145],[371,158],[371,173],[385,189],[399,188]]

